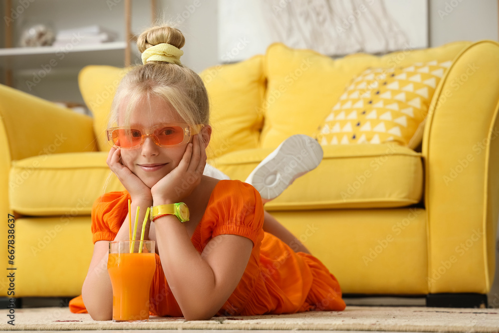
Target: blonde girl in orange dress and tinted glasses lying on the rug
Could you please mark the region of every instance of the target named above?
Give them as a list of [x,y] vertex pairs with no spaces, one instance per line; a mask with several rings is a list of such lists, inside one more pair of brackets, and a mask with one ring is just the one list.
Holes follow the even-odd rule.
[[111,107],[111,127],[124,131],[108,130],[114,147],[107,164],[126,191],[106,193],[93,205],[94,252],[83,302],[73,299],[70,310],[111,320],[108,244],[129,239],[128,199],[132,212],[141,207],[138,221],[150,206],[184,202],[190,211],[183,223],[172,214],[147,221],[144,239],[157,245],[151,315],[208,320],[344,310],[338,281],[317,258],[263,231],[263,203],[252,185],[203,175],[212,131],[208,95],[180,62],[184,43],[169,26],[138,38],[144,65],[124,76]]

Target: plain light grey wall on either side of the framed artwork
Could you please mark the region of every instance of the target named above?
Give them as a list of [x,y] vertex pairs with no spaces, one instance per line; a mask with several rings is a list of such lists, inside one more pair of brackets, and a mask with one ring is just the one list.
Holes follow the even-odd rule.
[[[497,0],[429,0],[430,47],[457,40],[499,41]],[[158,13],[180,19],[182,61],[197,72],[219,63],[218,0],[159,0]]]

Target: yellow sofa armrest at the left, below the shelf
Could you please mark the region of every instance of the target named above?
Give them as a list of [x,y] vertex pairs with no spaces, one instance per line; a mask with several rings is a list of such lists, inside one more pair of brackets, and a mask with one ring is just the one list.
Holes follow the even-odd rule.
[[4,132],[0,147],[6,148],[10,161],[97,150],[91,117],[4,85],[0,85],[0,121]]

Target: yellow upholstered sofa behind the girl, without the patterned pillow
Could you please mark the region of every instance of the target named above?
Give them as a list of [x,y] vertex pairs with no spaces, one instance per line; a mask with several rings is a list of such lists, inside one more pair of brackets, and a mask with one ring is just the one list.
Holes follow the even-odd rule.
[[[322,163],[266,205],[344,294],[420,295],[428,305],[436,295],[475,295],[469,306],[486,304],[499,213],[499,44],[333,60],[276,43],[264,55],[201,73],[212,105],[209,163],[244,180],[289,135],[314,135],[354,75],[433,59],[452,64],[416,149],[324,146]],[[17,298],[81,292],[93,248],[92,203],[124,189],[106,165],[103,133],[125,71],[82,69],[80,90],[93,118],[0,86],[0,206],[15,215],[14,231],[0,226],[2,243],[9,232],[15,240],[14,265],[6,263],[7,245],[2,265],[17,268]],[[0,278],[1,296],[8,292]]]

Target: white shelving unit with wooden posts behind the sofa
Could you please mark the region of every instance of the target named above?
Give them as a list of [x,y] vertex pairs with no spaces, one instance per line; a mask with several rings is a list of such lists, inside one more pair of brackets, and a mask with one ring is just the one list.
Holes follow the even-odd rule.
[[[11,13],[16,12],[19,4],[16,0],[2,2],[1,16],[12,17]],[[83,104],[77,76],[86,65],[124,67],[140,61],[140,53],[135,46],[136,36],[132,33],[132,7],[135,24],[142,22],[140,28],[156,20],[156,0],[140,0],[135,4],[132,0],[43,0],[26,3],[29,5],[22,11],[18,10],[21,12],[17,12],[13,21],[3,24],[5,30],[1,37],[4,41],[0,45],[5,47],[0,48],[0,83],[52,101]],[[47,24],[54,32],[100,25],[115,31],[118,38],[117,41],[101,44],[74,42],[57,47],[17,47],[22,30],[34,24]]]

